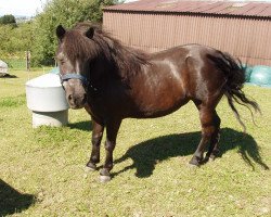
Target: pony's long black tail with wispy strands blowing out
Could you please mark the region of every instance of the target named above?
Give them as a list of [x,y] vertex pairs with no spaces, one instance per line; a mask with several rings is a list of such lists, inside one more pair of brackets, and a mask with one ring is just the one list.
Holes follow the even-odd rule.
[[233,102],[236,102],[241,105],[246,106],[253,117],[254,122],[254,115],[251,112],[251,108],[254,108],[255,112],[260,113],[260,107],[257,102],[247,99],[242,88],[245,84],[245,67],[242,66],[242,63],[240,60],[234,60],[230,54],[220,52],[221,56],[212,56],[208,55],[208,58],[216,64],[217,68],[221,71],[225,76],[225,82],[223,86],[223,92],[224,95],[228,99],[229,105],[232,108],[236,119],[243,127],[244,131],[246,131],[246,126],[242,122],[238,111],[234,106]]

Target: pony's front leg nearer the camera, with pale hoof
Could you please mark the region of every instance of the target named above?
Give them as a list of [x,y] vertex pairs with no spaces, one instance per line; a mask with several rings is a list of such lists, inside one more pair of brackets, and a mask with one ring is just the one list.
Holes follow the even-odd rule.
[[106,141],[105,141],[105,163],[101,170],[100,180],[106,182],[111,180],[111,169],[113,168],[113,151],[116,146],[116,139],[121,119],[115,119],[106,124]]

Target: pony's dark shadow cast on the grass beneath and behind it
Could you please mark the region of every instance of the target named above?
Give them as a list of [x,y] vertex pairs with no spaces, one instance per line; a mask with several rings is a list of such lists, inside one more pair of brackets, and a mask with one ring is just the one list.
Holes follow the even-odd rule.
[[[137,169],[136,176],[140,178],[150,177],[153,174],[155,164],[175,156],[192,155],[201,140],[201,132],[189,132],[180,135],[163,136],[131,146],[126,154],[116,159],[120,163],[127,158],[132,158],[133,164],[113,173],[113,176],[121,174],[128,169]],[[269,167],[262,162],[260,148],[249,135],[235,131],[230,128],[221,129],[220,157],[229,150],[237,149],[243,159],[254,169],[258,164],[264,169]]]

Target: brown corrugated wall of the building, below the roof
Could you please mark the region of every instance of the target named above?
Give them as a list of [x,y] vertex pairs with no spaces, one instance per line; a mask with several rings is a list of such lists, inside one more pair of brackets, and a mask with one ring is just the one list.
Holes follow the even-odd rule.
[[271,65],[271,20],[104,11],[104,28],[127,46],[156,52],[201,43],[253,65]]

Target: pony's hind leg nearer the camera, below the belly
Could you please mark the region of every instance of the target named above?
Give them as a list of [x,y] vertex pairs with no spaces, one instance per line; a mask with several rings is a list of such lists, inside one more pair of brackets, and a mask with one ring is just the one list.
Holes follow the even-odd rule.
[[[216,124],[217,113],[214,107],[205,106],[204,104],[197,105],[199,111],[199,118],[202,124],[202,139],[197,149],[190,161],[190,164],[199,166],[204,159],[204,151],[208,141],[212,140],[216,137],[216,132],[218,130],[218,124]],[[212,153],[215,149],[215,139],[214,142],[210,144],[209,151]]]

